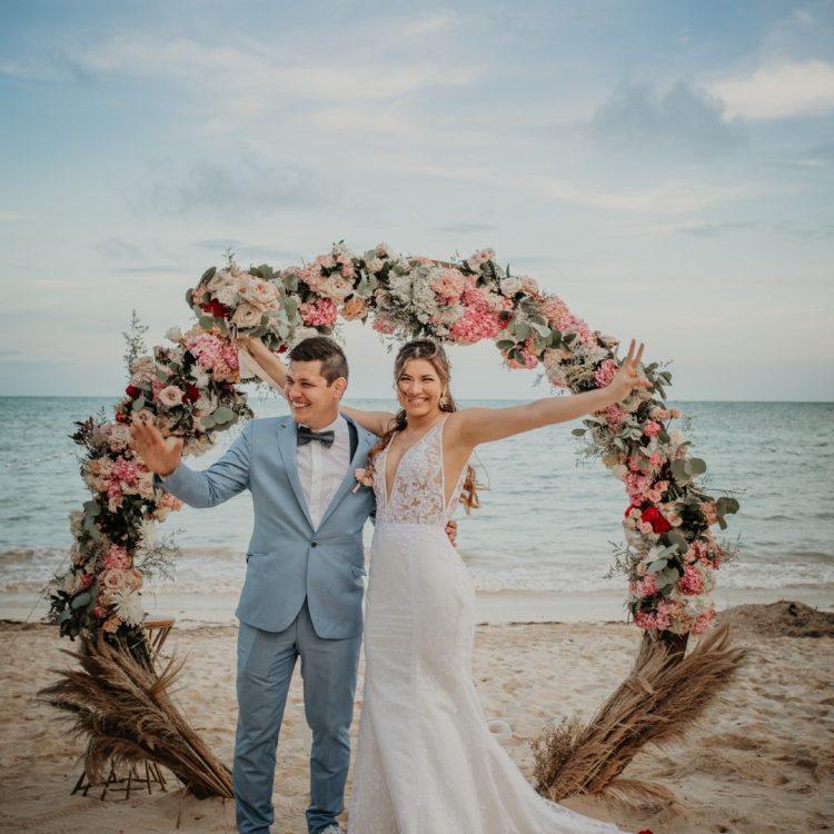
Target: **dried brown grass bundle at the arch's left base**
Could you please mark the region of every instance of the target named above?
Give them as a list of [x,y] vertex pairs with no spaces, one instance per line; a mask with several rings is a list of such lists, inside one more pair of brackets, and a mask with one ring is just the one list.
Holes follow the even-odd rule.
[[219,763],[168,695],[181,664],[161,673],[103,637],[66,652],[80,668],[56,669],[60,679],[38,694],[67,713],[71,732],[87,741],[85,771],[101,782],[110,765],[156,762],[199,798],[231,797],[228,768]]

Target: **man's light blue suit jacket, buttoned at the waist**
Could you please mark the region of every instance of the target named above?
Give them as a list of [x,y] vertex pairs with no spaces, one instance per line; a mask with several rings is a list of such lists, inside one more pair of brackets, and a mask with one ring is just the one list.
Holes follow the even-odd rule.
[[208,469],[195,471],[180,464],[160,478],[168,492],[192,507],[214,507],[244,489],[251,493],[255,527],[236,612],[241,623],[282,632],[307,599],[319,637],[361,634],[366,574],[361,532],[376,505],[373,489],[360,487],[354,493],[354,469],[366,465],[377,437],[354,426],[356,453],[317,529],[298,479],[291,417],[249,420],[231,448]]

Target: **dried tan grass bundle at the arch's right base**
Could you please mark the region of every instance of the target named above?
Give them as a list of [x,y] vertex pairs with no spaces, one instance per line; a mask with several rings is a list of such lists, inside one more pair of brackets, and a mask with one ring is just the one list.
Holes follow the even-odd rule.
[[[536,787],[544,796],[557,802],[610,790],[646,744],[683,738],[747,654],[731,645],[727,625],[716,627],[686,656],[679,647],[644,641],[628,677],[587,725],[563,722],[533,743]],[[647,783],[641,784],[637,793],[645,794]],[[622,781],[618,793],[627,792],[628,782]]]

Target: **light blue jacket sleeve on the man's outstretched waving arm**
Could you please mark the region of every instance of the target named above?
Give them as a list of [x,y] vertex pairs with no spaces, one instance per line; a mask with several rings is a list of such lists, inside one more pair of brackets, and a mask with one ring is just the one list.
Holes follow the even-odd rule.
[[180,464],[170,475],[153,480],[191,507],[214,507],[249,486],[252,420],[229,450],[208,469],[195,471]]

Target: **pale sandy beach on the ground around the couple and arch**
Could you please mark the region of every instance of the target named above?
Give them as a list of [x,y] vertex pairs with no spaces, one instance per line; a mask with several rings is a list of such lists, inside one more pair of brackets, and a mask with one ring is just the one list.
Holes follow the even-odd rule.
[[[777,592],[762,595],[768,593]],[[634,810],[583,797],[567,805],[625,831],[651,828],[654,834],[783,834],[834,826],[834,599],[825,588],[797,595],[815,602],[812,607],[746,594],[739,600],[745,605],[722,616],[734,618],[735,638],[752,649],[751,662],[685,743],[649,746],[626,772],[669,788],[677,802]],[[61,652],[71,644],[59,639],[51,626],[11,622],[24,600],[2,602],[3,616],[10,619],[0,625],[0,831],[150,834],[176,831],[178,817],[183,832],[235,831],[231,803],[199,802],[176,785],[167,793],[136,792],[127,802],[118,796],[101,802],[98,792],[71,796],[81,745],[64,732],[54,711],[36,698],[37,689],[54,679],[52,669],[72,663]],[[158,602],[178,615],[177,606],[188,600],[160,595]],[[180,615],[166,649],[187,658],[177,694],[182,709],[216,754],[230,763],[236,712],[232,606],[224,612],[228,600],[214,600],[214,608],[198,608],[195,602],[183,608],[191,616]],[[596,599],[590,610],[590,600],[574,599],[563,605],[562,622],[539,622],[557,602],[548,595],[479,598],[484,624],[476,634],[474,678],[488,719],[508,726],[503,744],[528,777],[529,742],[548,722],[577,712],[589,717],[628,672],[639,639],[633,626],[604,622],[609,603],[609,618],[619,618],[614,600]],[[228,622],[212,622],[207,607]],[[363,667],[359,674],[361,692]],[[360,706],[357,698],[357,714]],[[276,832],[306,831],[307,784],[296,675],[279,746]]]

